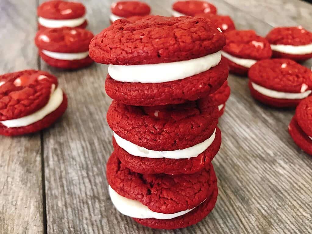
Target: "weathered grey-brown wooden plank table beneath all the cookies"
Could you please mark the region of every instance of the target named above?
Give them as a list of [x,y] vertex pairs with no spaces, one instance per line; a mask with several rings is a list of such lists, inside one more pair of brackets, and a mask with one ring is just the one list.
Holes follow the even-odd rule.
[[[60,71],[38,58],[33,38],[41,0],[0,0],[0,73],[41,69],[56,75],[69,98],[50,129],[1,137],[0,233],[311,233],[312,157],[290,138],[294,110],[253,100],[247,79],[229,76],[232,94],[219,127],[222,146],[213,160],[219,197],[197,225],[152,230],[119,214],[110,202],[106,162],[112,131],[105,115],[107,66]],[[109,24],[111,1],[85,0],[88,29]],[[173,1],[149,0],[153,14],[170,16]],[[238,29],[264,36],[275,26],[312,30],[312,5],[299,0],[211,0]],[[311,61],[304,63],[311,67]]]

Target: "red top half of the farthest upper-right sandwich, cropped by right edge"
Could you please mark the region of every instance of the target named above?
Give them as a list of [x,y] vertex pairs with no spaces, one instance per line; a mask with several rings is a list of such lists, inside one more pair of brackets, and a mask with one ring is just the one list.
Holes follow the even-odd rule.
[[312,43],[312,33],[303,27],[277,27],[273,28],[266,39],[272,45],[302,46]]

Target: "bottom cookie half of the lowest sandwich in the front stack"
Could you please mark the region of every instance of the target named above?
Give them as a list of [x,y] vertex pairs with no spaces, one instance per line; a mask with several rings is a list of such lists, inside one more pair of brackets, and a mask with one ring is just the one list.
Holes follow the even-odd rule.
[[133,218],[134,221],[138,222],[147,227],[156,228],[156,229],[177,229],[188,227],[193,224],[200,222],[205,218],[214,208],[217,202],[218,188],[217,182],[215,183],[215,188],[210,197],[207,198],[205,202],[200,204],[198,207],[193,209],[191,212],[186,213],[185,215],[173,218],[173,219],[138,219]]

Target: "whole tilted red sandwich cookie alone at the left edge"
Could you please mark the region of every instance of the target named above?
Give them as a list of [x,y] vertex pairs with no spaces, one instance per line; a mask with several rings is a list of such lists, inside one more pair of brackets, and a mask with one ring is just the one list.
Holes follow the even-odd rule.
[[35,70],[0,76],[0,134],[23,135],[49,127],[64,114],[67,97],[55,76]]

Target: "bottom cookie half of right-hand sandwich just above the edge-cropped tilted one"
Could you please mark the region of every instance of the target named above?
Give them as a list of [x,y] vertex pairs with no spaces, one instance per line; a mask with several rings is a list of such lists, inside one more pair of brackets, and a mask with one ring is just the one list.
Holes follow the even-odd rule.
[[250,93],[251,93],[251,96],[266,104],[266,105],[269,105],[269,106],[273,106],[273,107],[295,107],[299,104],[299,102],[302,100],[302,99],[277,99],[277,98],[271,98],[271,97],[268,97],[268,96],[265,96],[261,93],[259,93],[258,91],[256,91],[252,85],[251,85],[251,81],[249,81],[248,83],[248,87],[250,89]]

